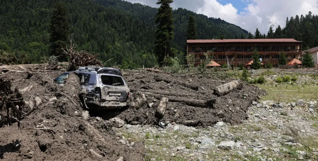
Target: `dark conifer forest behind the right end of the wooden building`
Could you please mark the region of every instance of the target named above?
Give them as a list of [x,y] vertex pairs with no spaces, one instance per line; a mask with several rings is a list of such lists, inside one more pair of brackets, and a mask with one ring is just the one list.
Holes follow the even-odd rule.
[[252,38],[293,38],[303,41],[303,49],[318,46],[318,15],[308,12],[305,16],[296,15],[295,17],[286,18],[286,26],[282,29],[280,25],[273,31],[272,27],[268,30],[267,35],[261,34],[256,29]]

